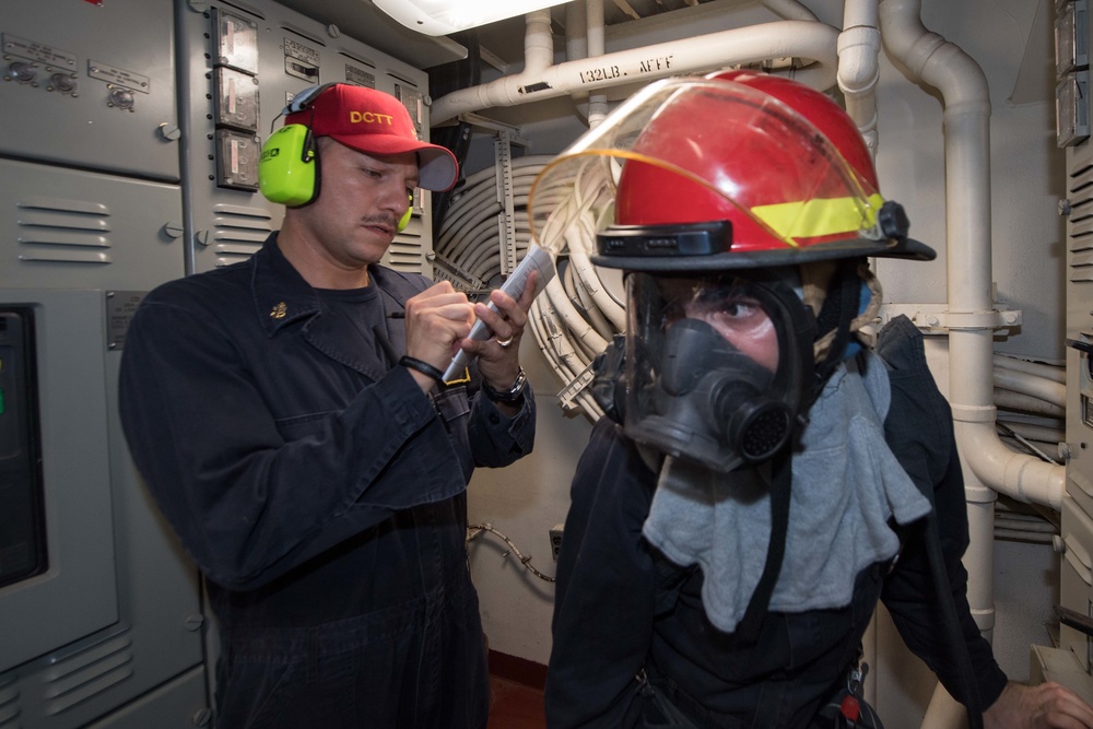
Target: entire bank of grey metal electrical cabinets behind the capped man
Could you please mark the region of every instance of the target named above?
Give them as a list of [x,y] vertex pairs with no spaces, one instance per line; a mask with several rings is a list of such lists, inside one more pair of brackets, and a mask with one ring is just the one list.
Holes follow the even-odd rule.
[[[258,160],[294,94],[380,89],[425,138],[427,78],[269,0],[3,2],[0,51],[0,729],[205,726],[199,576],[121,434],[128,321],[280,225]],[[391,266],[432,273],[428,202]]]

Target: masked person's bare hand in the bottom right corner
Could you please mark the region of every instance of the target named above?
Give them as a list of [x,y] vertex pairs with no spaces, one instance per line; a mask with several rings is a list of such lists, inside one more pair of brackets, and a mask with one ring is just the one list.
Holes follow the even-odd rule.
[[1026,686],[1010,681],[983,714],[985,729],[1093,729],[1093,708],[1055,682]]

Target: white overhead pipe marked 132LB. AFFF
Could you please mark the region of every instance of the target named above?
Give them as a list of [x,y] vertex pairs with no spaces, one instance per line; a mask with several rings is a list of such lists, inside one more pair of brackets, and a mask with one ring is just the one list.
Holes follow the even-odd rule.
[[[545,15],[545,22],[533,21],[532,16],[537,13]],[[528,14],[526,52],[530,47],[553,47],[550,13],[537,13]],[[538,58],[533,62],[529,52],[529,59],[519,73],[446,94],[433,102],[430,116],[432,124],[438,125],[460,114],[494,106],[516,106],[767,58],[796,57],[815,61],[813,66],[795,71],[794,78],[814,89],[825,90],[835,84],[837,38],[838,31],[825,23],[775,21],[556,66],[544,66],[538,62]]]

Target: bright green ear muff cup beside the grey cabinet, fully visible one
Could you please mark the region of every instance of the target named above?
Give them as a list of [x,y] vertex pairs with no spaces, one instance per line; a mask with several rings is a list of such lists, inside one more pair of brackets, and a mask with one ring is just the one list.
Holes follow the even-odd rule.
[[302,124],[281,127],[262,145],[258,189],[270,202],[306,205],[319,191],[318,162],[310,129]]

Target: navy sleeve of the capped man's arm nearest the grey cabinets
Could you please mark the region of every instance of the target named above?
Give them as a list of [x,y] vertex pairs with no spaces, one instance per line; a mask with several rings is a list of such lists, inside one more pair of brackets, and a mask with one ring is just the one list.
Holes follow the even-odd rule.
[[[256,363],[233,333],[199,306],[145,299],[119,383],[137,468],[210,579],[261,587],[396,510],[466,489],[455,442],[404,368],[346,403],[330,393],[333,375],[299,391],[279,379],[292,363]],[[271,391],[290,401],[281,412],[307,414],[278,421]],[[526,431],[495,437],[530,450]]]

